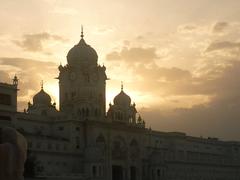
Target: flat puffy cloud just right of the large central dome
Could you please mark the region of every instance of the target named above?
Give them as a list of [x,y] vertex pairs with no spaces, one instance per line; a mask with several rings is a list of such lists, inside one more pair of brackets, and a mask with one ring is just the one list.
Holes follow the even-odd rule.
[[113,51],[107,54],[106,59],[109,61],[124,61],[127,64],[134,63],[152,63],[155,59],[158,59],[155,48],[143,48],[143,47],[124,47],[121,51]]

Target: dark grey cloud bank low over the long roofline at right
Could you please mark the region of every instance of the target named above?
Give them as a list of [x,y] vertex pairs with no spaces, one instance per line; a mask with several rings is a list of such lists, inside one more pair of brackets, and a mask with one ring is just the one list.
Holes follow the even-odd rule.
[[155,130],[181,131],[189,135],[239,140],[240,97],[213,100],[192,108],[164,111],[140,110],[147,124]]

